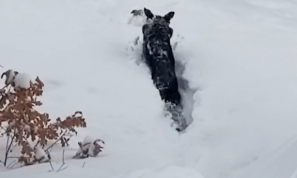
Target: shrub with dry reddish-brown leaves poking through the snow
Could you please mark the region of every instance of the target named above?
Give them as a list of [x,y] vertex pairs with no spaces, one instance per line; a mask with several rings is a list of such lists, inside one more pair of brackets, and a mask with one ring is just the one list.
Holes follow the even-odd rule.
[[[5,160],[2,161],[5,166],[10,158],[8,154],[16,146],[21,148],[18,162],[24,165],[50,160],[50,147],[58,142],[62,147],[68,146],[69,139],[77,134],[75,128],[86,127],[80,111],[64,120],[57,118],[54,122],[47,113],[38,112],[35,107],[42,105],[38,97],[42,96],[43,82],[37,77],[26,87],[17,85],[24,83],[16,80],[19,75],[12,70],[1,75],[1,79],[6,77],[5,86],[0,89],[0,136],[7,137]],[[22,80],[22,77],[18,78]],[[44,149],[49,141],[53,144]],[[48,158],[44,158],[45,152]]]

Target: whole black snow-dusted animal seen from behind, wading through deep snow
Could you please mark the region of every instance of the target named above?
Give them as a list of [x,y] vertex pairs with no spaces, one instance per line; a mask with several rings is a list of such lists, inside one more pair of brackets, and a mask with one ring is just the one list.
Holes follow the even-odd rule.
[[169,27],[174,12],[165,16],[154,15],[144,8],[147,23],[142,27],[143,56],[151,70],[154,85],[159,90],[162,100],[165,100],[168,110],[173,114],[173,120],[182,130],[186,127],[184,117],[181,116],[181,95],[178,92],[178,83],[175,73],[175,60],[170,45],[173,29]]

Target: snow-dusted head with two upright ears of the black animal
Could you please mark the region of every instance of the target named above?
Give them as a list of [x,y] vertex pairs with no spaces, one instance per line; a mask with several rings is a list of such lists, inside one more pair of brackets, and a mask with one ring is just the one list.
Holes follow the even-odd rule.
[[167,39],[168,37],[171,38],[173,30],[169,27],[169,24],[174,16],[173,11],[161,16],[154,15],[149,9],[144,8],[144,14],[147,17],[147,23],[142,28],[144,36],[149,34],[159,34],[158,36],[163,39]]

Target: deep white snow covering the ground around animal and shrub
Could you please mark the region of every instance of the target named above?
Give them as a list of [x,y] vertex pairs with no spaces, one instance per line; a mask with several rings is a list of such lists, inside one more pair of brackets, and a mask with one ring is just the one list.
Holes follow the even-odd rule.
[[[176,12],[171,42],[194,94],[186,133],[170,128],[137,65],[135,7]],[[296,9],[296,0],[1,0],[0,72],[38,75],[42,111],[81,110],[87,122],[65,149],[67,169],[0,165],[1,177],[296,178]],[[71,159],[87,135],[105,141],[103,152]],[[62,148],[51,155],[58,169]]]

